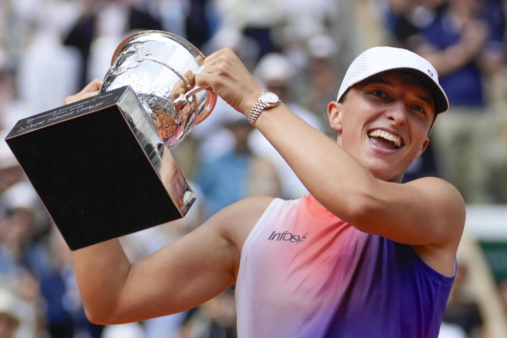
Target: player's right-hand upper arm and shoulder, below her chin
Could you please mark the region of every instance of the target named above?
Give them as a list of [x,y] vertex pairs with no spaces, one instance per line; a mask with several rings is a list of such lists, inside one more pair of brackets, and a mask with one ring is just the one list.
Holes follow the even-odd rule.
[[459,192],[441,179],[426,177],[405,184],[377,181],[356,220],[359,230],[400,243],[457,245],[464,217]]

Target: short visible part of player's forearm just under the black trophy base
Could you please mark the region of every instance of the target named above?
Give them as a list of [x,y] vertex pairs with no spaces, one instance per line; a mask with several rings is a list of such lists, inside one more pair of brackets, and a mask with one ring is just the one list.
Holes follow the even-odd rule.
[[72,259],[87,317],[110,322],[130,270],[120,242],[114,239],[73,251]]

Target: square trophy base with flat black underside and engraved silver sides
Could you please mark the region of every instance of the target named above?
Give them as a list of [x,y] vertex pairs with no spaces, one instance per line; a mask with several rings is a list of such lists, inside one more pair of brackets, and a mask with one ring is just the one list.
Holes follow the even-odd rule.
[[130,87],[16,124],[6,141],[71,250],[185,215],[195,195]]

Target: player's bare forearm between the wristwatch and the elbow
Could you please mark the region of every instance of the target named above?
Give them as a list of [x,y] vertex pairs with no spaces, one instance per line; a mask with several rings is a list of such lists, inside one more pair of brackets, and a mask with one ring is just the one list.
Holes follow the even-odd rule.
[[281,104],[264,111],[256,127],[277,149],[308,191],[344,220],[354,217],[376,186],[372,173]]

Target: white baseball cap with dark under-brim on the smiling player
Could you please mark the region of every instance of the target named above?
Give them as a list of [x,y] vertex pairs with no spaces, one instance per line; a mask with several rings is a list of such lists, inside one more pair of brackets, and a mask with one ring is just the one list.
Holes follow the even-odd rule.
[[373,47],[356,57],[345,73],[336,100],[340,101],[348,88],[386,70],[405,72],[421,81],[433,97],[437,114],[449,108],[449,100],[431,63],[411,51],[394,47]]

